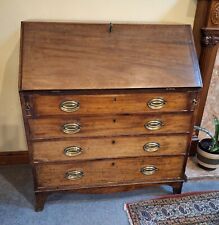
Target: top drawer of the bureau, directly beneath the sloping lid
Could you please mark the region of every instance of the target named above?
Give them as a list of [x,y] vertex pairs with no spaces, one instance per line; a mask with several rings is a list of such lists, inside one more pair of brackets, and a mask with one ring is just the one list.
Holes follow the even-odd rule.
[[189,93],[32,96],[34,113],[44,115],[117,114],[190,110]]

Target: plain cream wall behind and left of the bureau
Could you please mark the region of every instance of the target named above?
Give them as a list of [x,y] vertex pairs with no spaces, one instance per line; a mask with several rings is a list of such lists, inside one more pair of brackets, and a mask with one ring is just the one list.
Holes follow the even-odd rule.
[[18,98],[20,21],[193,24],[196,0],[0,0],[0,151],[26,150]]

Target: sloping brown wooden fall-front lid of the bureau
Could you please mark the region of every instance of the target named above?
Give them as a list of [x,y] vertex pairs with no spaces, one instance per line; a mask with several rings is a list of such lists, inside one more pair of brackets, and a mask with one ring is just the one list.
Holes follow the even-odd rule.
[[188,25],[22,22],[20,90],[200,87]]

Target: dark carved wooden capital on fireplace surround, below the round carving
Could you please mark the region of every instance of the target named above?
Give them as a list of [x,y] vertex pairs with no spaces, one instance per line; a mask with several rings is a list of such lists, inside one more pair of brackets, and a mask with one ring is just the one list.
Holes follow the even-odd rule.
[[201,29],[201,42],[205,47],[213,47],[219,43],[218,28],[203,28]]

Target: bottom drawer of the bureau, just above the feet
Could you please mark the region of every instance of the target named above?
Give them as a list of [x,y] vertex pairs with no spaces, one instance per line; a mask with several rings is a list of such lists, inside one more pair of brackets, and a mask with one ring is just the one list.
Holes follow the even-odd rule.
[[40,188],[107,186],[180,179],[184,157],[142,157],[66,164],[37,164]]

